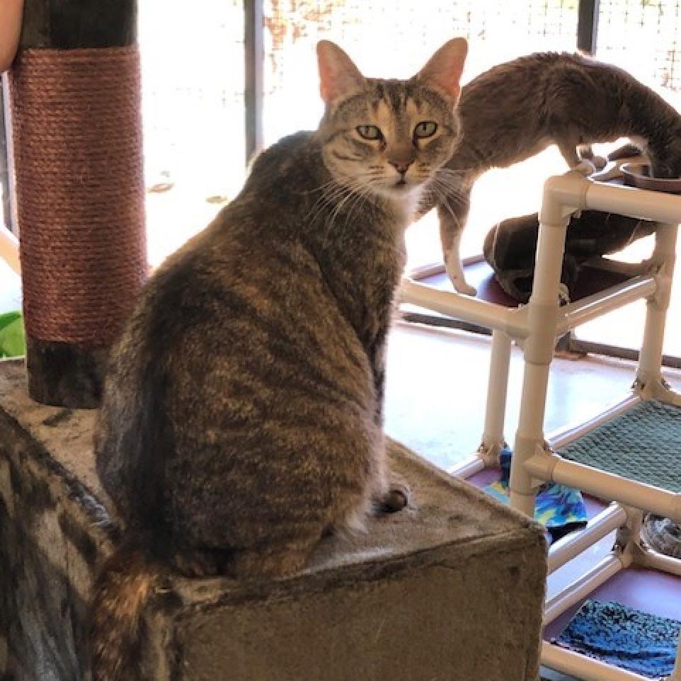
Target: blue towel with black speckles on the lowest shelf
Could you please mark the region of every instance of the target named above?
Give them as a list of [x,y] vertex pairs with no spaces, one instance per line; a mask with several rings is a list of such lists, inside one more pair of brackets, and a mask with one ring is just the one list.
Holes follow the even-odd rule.
[[651,679],[672,673],[681,622],[620,605],[588,600],[552,641]]

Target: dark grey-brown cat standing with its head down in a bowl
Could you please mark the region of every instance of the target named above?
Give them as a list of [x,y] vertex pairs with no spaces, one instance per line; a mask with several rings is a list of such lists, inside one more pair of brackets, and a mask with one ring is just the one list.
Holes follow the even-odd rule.
[[[471,189],[490,168],[505,168],[556,144],[568,166],[578,147],[629,137],[656,177],[681,176],[681,116],[622,69],[588,57],[539,52],[499,64],[462,88],[462,144],[437,173],[442,251],[454,288],[475,295],[459,258]],[[587,156],[587,154],[584,154]]]

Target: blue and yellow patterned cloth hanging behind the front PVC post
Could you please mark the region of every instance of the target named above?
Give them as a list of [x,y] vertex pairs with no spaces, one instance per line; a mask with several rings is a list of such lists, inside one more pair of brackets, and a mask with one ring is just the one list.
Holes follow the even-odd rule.
[[[508,504],[511,451],[499,452],[499,479],[486,486],[485,491],[502,503]],[[544,483],[537,492],[534,520],[546,527],[552,542],[585,527],[588,515],[579,490],[558,483]]]

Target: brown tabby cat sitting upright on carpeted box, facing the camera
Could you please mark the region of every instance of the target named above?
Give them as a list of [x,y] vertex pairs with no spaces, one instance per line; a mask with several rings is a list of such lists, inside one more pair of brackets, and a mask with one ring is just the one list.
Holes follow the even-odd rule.
[[125,530],[94,591],[93,681],[139,679],[139,610],[164,571],[287,576],[324,534],[406,503],[384,453],[385,344],[404,229],[459,142],[467,44],[406,81],[317,51],[319,129],[256,159],[113,350],[95,449]]

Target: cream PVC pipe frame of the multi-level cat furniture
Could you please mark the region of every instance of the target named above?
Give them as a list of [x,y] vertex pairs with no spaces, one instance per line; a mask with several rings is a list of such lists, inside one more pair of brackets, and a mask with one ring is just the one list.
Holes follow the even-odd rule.
[[[566,228],[571,214],[592,209],[617,212],[658,222],[655,246],[646,272],[597,294],[559,306],[559,284]],[[553,450],[578,440],[593,428],[629,413],[631,408],[656,399],[681,406],[681,394],[670,390],[661,374],[662,347],[670,287],[675,264],[677,224],[681,222],[681,196],[592,181],[577,171],[549,178],[539,214],[534,285],[525,307],[508,308],[478,299],[435,290],[406,279],[402,299],[464,321],[493,329],[488,401],[479,452],[450,472],[470,476],[493,464],[504,446],[504,417],[511,340],[522,344],[525,373],[510,476],[510,503],[533,515],[535,493],[546,481],[564,483],[600,498],[610,507],[593,517],[585,530],[568,534],[549,551],[549,573],[589,549],[595,542],[618,531],[622,545],[586,573],[547,600],[544,625],[552,622],[595,588],[629,566],[647,566],[681,576],[681,561],[662,556],[641,545],[643,511],[681,521],[681,493],[652,486],[618,474],[565,459]],[[617,263],[610,267],[617,268]],[[622,270],[630,269],[623,265]],[[643,343],[631,395],[578,428],[549,438],[544,435],[544,406],[549,368],[556,340],[566,331],[634,300],[647,300]],[[636,457],[632,451],[631,457]],[[619,538],[618,538],[619,541]],[[643,681],[641,675],[558,648],[544,641],[542,661],[551,668],[585,681]],[[681,653],[668,681],[681,681]]]

